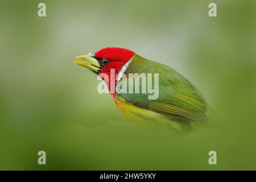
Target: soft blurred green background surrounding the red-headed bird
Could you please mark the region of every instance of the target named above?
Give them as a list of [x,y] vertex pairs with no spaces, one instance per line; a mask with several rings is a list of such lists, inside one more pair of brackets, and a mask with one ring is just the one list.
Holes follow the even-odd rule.
[[[255,1],[0,2],[0,169],[256,169]],[[176,137],[128,121],[97,92],[97,77],[72,63],[104,47],[179,71],[221,129]]]

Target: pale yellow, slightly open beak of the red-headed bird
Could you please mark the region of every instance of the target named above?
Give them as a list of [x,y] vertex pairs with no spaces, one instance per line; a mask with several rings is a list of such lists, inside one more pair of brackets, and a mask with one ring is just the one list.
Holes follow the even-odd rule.
[[98,63],[98,60],[92,57],[91,54],[76,56],[75,59],[79,59],[82,61],[73,61],[73,63],[76,63],[82,67],[88,68],[96,73],[100,73],[101,66]]

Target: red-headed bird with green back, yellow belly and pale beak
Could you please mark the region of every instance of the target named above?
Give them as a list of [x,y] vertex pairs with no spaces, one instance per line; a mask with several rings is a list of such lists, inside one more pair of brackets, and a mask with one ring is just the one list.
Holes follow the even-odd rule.
[[[105,75],[104,78],[100,77],[112,90],[110,94],[115,104],[131,121],[156,123],[177,132],[188,132],[212,123],[215,113],[203,94],[187,78],[167,65],[119,47],[102,48],[94,54],[76,56],[75,59],[79,61],[74,63],[88,68],[96,75]],[[111,72],[114,74],[112,82]],[[127,80],[127,75],[131,73],[158,74],[158,97],[148,99],[149,92],[117,92],[118,84]],[[139,88],[142,86],[139,85]]]

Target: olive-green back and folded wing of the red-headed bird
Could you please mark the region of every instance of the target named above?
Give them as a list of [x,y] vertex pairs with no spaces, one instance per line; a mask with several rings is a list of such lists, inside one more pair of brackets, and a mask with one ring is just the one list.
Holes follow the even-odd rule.
[[174,69],[135,55],[127,73],[159,73],[159,97],[148,100],[148,93],[121,93],[116,94],[119,99],[166,115],[172,121],[207,120],[208,105],[202,94]]

